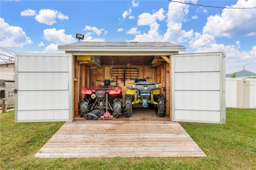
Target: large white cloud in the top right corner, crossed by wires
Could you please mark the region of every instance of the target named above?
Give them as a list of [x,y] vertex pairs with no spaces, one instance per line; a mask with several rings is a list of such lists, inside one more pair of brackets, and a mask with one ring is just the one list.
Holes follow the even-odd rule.
[[[255,0],[238,0],[232,7],[252,7],[255,6]],[[223,9],[221,15],[210,15],[207,17],[207,22],[203,28],[203,33],[210,35],[219,35],[222,32],[230,30],[237,25],[241,25],[246,21],[250,21],[255,18],[256,9],[247,10],[230,10]],[[252,36],[256,35],[256,23],[255,21],[246,23],[237,27],[234,30],[223,33],[221,36],[234,37],[238,35]]]

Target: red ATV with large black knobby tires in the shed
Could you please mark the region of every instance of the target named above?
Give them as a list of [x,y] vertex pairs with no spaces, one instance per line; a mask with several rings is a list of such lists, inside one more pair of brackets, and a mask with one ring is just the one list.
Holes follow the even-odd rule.
[[[92,88],[83,88],[82,94],[86,97],[79,103],[79,115],[84,117],[87,113],[94,109],[102,109],[113,112],[113,116],[121,118],[122,114],[122,88],[117,87],[117,80],[96,80],[103,82],[103,86],[94,86]],[[112,82],[116,82],[116,86],[111,86]]]

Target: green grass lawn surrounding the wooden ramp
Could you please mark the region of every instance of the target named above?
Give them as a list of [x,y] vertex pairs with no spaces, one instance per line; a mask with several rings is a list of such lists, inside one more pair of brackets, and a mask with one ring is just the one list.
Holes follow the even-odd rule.
[[226,124],[182,122],[204,158],[36,159],[63,122],[14,123],[14,111],[0,115],[1,169],[256,169],[256,109],[228,108]]

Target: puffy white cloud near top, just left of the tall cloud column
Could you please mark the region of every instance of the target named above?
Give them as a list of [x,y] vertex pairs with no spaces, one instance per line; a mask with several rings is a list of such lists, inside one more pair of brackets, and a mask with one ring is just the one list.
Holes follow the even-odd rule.
[[156,20],[162,21],[165,18],[164,9],[161,8],[157,12],[150,13],[142,13],[138,16],[138,25],[150,25],[156,22]]

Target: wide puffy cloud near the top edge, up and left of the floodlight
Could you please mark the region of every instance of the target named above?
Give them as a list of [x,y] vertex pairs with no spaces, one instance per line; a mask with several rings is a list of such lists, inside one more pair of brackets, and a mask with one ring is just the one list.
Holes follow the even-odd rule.
[[60,20],[68,20],[67,15],[62,14],[59,11],[50,10],[50,9],[40,10],[38,15],[35,16],[35,19],[39,23],[44,23],[46,25],[52,25],[56,23],[56,18]]

